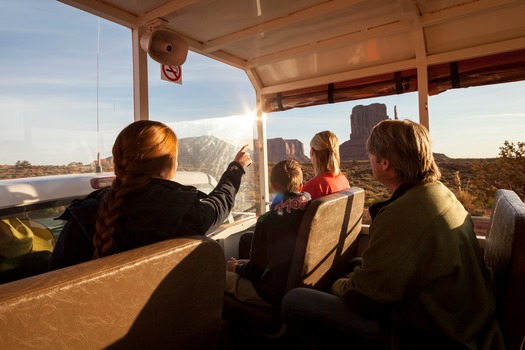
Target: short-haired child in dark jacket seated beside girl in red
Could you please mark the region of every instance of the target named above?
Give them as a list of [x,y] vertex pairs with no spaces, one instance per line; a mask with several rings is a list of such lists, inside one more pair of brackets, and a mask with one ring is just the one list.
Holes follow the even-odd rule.
[[279,305],[286,288],[295,238],[311,202],[303,193],[303,172],[296,160],[283,160],[271,171],[270,183],[279,193],[270,211],[255,225],[250,259],[231,258],[226,264],[225,291],[252,304]]

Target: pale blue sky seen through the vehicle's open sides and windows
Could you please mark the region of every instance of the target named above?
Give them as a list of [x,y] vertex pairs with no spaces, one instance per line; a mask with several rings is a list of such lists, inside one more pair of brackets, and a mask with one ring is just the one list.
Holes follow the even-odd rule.
[[[2,5],[0,164],[86,162],[97,147],[102,157],[109,156],[115,134],[133,118],[129,29],[54,0]],[[253,88],[236,68],[190,52],[178,85],[160,79],[158,63],[150,60],[148,67],[152,119],[226,118],[255,108]],[[519,82],[430,97],[434,151],[487,158],[496,157],[505,140],[525,141],[524,96],[525,82]],[[417,121],[417,95],[404,94],[271,113],[268,138],[299,139],[307,148],[316,132],[329,129],[343,143],[351,132],[352,108],[371,103],[386,104],[391,117],[397,106],[400,118]],[[99,127],[111,130],[101,140],[94,132],[97,115]],[[79,139],[88,145],[78,145]]]

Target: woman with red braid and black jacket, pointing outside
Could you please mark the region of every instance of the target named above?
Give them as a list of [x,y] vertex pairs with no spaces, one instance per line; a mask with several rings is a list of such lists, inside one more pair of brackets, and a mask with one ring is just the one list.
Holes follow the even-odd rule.
[[74,200],[59,219],[67,220],[51,255],[58,269],[165,239],[204,235],[229,215],[251,164],[241,148],[209,194],[171,181],[177,170],[177,136],[167,125],[136,121],[113,145],[111,187]]

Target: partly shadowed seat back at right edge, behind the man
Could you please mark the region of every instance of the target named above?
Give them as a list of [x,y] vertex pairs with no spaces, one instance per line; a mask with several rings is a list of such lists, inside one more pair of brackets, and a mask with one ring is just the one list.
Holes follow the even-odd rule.
[[496,191],[485,242],[496,278],[498,321],[507,349],[525,341],[525,204],[514,191]]

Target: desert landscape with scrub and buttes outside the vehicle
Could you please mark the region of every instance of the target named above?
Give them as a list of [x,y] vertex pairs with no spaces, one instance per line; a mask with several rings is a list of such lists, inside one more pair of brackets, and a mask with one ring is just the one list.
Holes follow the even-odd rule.
[[[366,155],[366,139],[373,126],[381,120],[389,119],[384,104],[355,106],[350,115],[350,140],[340,144],[341,169],[352,186],[365,190],[365,208],[390,197],[388,191],[372,178],[372,172]],[[254,140],[254,145],[256,144]],[[305,155],[305,147],[299,140],[274,138],[267,140],[268,167],[282,159],[296,159],[303,167],[304,181],[313,177],[310,159]],[[202,171],[219,179],[237,147],[213,136],[199,136],[179,139],[179,170]],[[254,194],[258,171],[258,154],[253,152],[253,171],[247,172],[242,187],[244,192]],[[489,216],[494,194],[498,188],[515,191],[520,198],[525,198],[525,142],[505,141],[500,147],[497,158],[455,159],[445,154],[434,154],[441,169],[441,181],[454,192],[464,207],[473,216]],[[28,161],[17,161],[14,165],[0,165],[0,180],[43,175],[59,175],[94,172],[96,162],[68,165],[33,166]],[[100,160],[103,171],[112,171],[112,158]],[[253,205],[245,203],[239,195],[236,204],[239,208]],[[248,200],[249,201],[249,200]],[[365,222],[369,220],[366,217]]]

